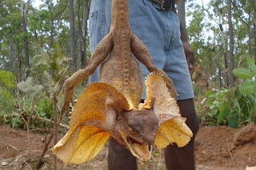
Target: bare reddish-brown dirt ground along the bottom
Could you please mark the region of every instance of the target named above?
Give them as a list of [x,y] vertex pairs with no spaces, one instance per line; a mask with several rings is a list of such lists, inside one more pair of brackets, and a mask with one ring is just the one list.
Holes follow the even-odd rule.
[[[43,140],[44,136],[39,135],[38,131],[28,133],[0,126],[0,169],[35,169],[35,161],[44,146]],[[146,164],[138,163],[139,169],[165,170],[163,152],[154,148],[152,155]],[[200,128],[195,140],[195,158],[198,170],[256,169],[255,125],[250,124],[240,129],[224,126]],[[89,163],[65,165],[58,160],[58,169],[105,170],[106,160],[107,144]],[[40,169],[51,169],[51,165],[52,154],[49,150]]]

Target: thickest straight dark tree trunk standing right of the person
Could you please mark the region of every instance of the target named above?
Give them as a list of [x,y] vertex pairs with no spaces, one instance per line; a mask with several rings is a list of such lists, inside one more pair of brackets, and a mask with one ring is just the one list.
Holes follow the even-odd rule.
[[228,22],[229,22],[229,30],[230,30],[230,53],[229,53],[229,58],[230,58],[230,65],[229,65],[229,73],[230,73],[230,85],[234,85],[234,74],[233,74],[233,69],[234,69],[234,32],[233,32],[233,24],[232,24],[232,16],[231,16],[231,1],[232,0],[227,0],[227,6],[228,6]]

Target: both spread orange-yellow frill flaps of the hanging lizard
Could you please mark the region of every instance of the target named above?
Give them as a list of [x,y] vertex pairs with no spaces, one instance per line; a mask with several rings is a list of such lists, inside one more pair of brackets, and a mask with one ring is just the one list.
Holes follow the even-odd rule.
[[[193,133],[185,123],[186,118],[181,117],[165,81],[161,75],[150,73],[145,84],[147,100],[141,108],[150,109],[156,101],[159,120],[154,144],[158,149],[172,143],[178,144],[178,147],[185,146]],[[74,105],[69,131],[53,148],[60,160],[66,164],[82,164],[97,156],[110,136],[106,127],[106,101],[109,99],[114,103],[116,112],[130,109],[126,97],[111,85],[93,83],[86,87]]]

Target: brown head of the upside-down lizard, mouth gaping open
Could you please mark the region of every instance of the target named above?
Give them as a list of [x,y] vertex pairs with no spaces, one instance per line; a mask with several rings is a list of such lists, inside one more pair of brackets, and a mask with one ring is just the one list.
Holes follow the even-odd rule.
[[158,117],[153,109],[123,111],[116,129],[122,144],[141,161],[150,160],[152,144],[158,130]]

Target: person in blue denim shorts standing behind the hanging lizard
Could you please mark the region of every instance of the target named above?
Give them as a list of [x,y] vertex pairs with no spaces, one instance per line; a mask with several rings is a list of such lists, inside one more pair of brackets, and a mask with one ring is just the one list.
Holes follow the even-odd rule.
[[[160,2],[160,3],[159,3]],[[186,125],[194,133],[190,143],[183,148],[176,144],[165,148],[167,169],[194,169],[194,137],[198,131],[198,118],[194,110],[190,73],[194,71],[194,54],[186,41],[184,31],[175,14],[174,0],[128,0],[130,28],[149,49],[154,65],[163,69],[174,81],[178,92],[178,106]],[[111,0],[92,0],[90,5],[90,50],[110,31]],[[181,34],[182,32],[182,34]],[[186,55],[185,55],[186,53]],[[149,74],[139,63],[142,81]],[[189,66],[189,67],[188,67]],[[89,78],[98,81],[100,66]],[[146,99],[145,86],[142,99]],[[121,144],[110,137],[109,169],[137,169],[136,158]]]

